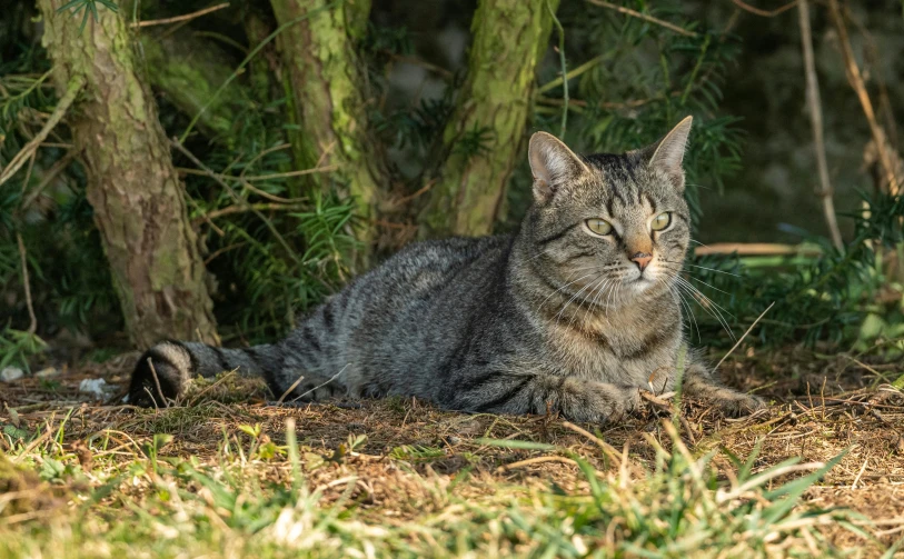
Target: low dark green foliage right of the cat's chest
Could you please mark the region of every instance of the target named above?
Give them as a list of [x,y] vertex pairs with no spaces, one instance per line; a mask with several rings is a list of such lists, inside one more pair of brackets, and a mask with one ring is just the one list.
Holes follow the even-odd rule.
[[[689,281],[682,287],[687,305],[697,309],[692,331],[698,328],[704,340],[727,343],[719,330],[746,330],[772,302],[775,307],[757,330],[757,345],[856,340],[870,315],[904,323],[900,299],[876,302],[877,291],[892,282],[884,276],[881,256],[900,250],[904,242],[904,200],[864,196],[864,202],[867,209],[850,216],[856,236],[843,250],[836,250],[828,239],[809,238],[821,256],[692,260],[686,266]],[[901,340],[904,331],[880,329],[862,341],[882,338]]]

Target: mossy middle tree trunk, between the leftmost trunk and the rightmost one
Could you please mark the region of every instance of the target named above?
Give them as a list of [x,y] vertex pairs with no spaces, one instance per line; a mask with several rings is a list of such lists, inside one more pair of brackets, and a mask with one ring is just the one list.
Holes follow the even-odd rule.
[[300,169],[337,166],[327,174],[311,174],[324,186],[338,178],[348,186],[361,218],[358,238],[371,241],[374,210],[386,180],[383,158],[368,141],[367,112],[361,64],[355,53],[362,37],[369,0],[346,0],[322,8],[326,0],[270,0],[277,22],[282,26],[315,10],[286,29],[278,38],[286,69],[287,99],[292,104],[290,133],[296,164]]

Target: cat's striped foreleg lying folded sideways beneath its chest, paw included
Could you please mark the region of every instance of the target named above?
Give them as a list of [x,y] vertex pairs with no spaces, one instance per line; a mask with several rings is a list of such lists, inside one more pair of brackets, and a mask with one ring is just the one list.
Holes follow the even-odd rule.
[[490,413],[559,412],[579,422],[616,421],[640,403],[636,387],[577,377],[490,372],[457,390],[453,408]]

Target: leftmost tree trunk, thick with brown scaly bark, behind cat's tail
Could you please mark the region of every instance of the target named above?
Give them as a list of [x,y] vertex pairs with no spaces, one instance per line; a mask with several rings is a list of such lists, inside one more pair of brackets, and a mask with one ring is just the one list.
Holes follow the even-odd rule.
[[80,31],[80,16],[57,12],[64,1],[39,0],[43,44],[60,90],[85,82],[70,123],[129,337],[140,347],[163,338],[216,343],[185,188],[129,30],[121,14],[99,6],[99,21]]

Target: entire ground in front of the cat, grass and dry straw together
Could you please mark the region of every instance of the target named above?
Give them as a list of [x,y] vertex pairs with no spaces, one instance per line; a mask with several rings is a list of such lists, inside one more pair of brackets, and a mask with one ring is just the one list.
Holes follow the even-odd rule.
[[729,360],[784,395],[766,412],[684,402],[603,432],[399,398],[274,408],[234,376],[191,406],[79,401],[128,358],[28,379],[2,396],[0,557],[901,556],[904,396],[798,353]]

